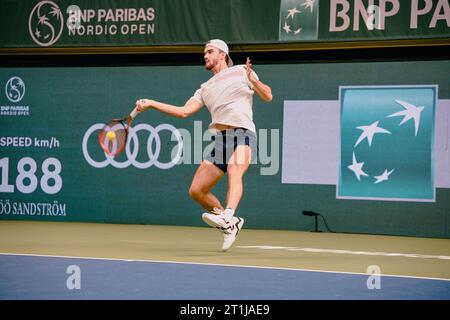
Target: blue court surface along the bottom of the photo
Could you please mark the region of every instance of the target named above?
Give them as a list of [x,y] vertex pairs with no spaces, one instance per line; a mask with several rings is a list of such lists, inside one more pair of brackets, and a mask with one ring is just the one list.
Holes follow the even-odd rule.
[[[76,266],[79,289],[68,286]],[[197,263],[0,255],[0,299],[447,300],[450,281]]]

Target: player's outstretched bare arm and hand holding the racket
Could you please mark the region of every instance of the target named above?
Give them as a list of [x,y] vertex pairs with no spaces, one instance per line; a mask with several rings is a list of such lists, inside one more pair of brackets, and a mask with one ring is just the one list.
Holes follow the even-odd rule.
[[139,99],[136,101],[136,108],[138,112],[143,112],[148,109],[156,109],[177,118],[187,118],[200,110],[201,107],[203,107],[203,105],[194,98],[189,99],[182,107],[150,99]]

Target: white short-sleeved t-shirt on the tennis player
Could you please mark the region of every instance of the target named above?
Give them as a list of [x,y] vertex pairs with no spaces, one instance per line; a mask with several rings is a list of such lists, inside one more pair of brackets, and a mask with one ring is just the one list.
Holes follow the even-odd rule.
[[[255,72],[253,75],[258,79]],[[224,124],[256,133],[252,111],[253,93],[245,65],[237,65],[216,73],[195,91],[193,98],[206,105],[211,113],[209,128],[215,124]]]

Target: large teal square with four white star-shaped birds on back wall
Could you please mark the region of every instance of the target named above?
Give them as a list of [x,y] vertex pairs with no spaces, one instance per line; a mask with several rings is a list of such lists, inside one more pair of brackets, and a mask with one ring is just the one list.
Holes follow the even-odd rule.
[[341,87],[338,198],[435,201],[437,86]]

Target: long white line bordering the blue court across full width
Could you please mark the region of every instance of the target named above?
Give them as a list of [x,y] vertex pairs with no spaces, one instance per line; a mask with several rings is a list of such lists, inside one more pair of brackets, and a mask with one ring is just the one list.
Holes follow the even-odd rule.
[[[60,256],[60,255],[32,254],[32,253],[8,253],[8,252],[0,252],[0,255],[5,255],[5,256],[31,256],[31,257],[45,257],[45,258],[86,259],[86,260],[125,261],[125,262],[151,262],[151,263],[190,264],[190,265],[205,265],[205,266],[218,266],[218,267],[237,267],[237,268],[256,268],[256,269],[273,269],[273,270],[288,270],[288,271],[338,273],[338,274],[363,275],[363,276],[370,276],[370,275],[372,275],[372,274],[363,273],[363,272],[347,272],[347,271],[316,270],[316,269],[302,269],[302,268],[283,268],[283,267],[265,267],[265,266],[238,265],[238,264],[221,264],[221,263],[203,263],[203,262],[190,262],[190,261],[120,259],[120,258]],[[381,276],[383,276],[383,277],[395,277],[395,278],[411,278],[411,279],[450,281],[450,279],[447,279],[447,278],[417,277],[417,276],[396,275],[396,274],[381,274]]]

